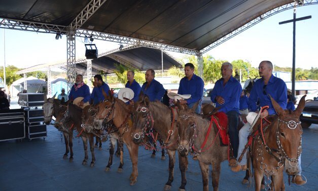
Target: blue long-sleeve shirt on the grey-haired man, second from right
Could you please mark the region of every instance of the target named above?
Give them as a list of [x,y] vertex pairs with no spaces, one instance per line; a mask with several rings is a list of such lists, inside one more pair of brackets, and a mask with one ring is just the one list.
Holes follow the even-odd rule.
[[[218,80],[211,92],[211,101],[216,103],[216,107],[221,107],[219,111],[229,112],[236,111],[239,113],[239,98],[242,92],[241,84],[233,78],[230,77],[229,81],[223,85],[224,79]],[[224,99],[224,104],[219,104],[215,99],[217,96],[221,96]]]

